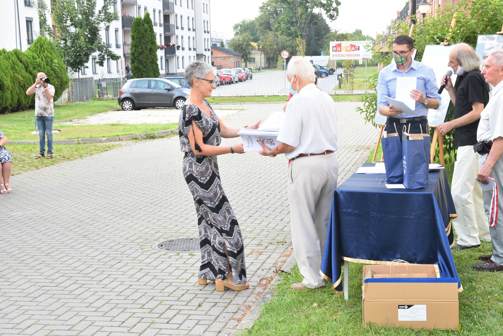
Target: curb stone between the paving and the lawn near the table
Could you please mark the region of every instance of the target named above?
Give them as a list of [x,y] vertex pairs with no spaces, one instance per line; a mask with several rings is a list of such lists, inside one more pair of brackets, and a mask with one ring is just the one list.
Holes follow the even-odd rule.
[[[290,272],[293,265],[295,265],[295,255],[292,251],[292,254],[288,258],[288,260],[283,264],[281,271]],[[254,303],[245,317],[239,322],[234,329],[223,329],[219,336],[235,336],[239,333],[242,333],[245,328],[252,328],[255,324],[255,321],[260,317],[262,305],[271,301],[271,297],[273,295],[273,290],[276,285],[281,281],[281,278],[276,274],[273,281],[269,284],[266,291],[261,295],[261,297]],[[232,331],[230,331],[232,330]]]

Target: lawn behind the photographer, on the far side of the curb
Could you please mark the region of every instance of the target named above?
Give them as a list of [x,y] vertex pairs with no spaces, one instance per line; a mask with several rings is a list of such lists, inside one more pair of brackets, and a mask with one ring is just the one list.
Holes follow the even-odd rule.
[[[93,100],[86,103],[72,103],[54,106],[54,123],[68,122],[97,113],[118,109],[116,100]],[[77,139],[91,137],[121,136],[128,134],[163,131],[177,127],[169,124],[104,124],[104,125],[54,125],[61,133],[53,133],[54,139]],[[0,115],[0,129],[9,140],[38,140],[35,130],[35,110]]]

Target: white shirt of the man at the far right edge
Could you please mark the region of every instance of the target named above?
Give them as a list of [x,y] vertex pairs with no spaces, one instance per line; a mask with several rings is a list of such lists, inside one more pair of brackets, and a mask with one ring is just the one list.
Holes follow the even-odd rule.
[[503,137],[503,80],[489,92],[489,103],[480,114],[477,141],[493,141]]

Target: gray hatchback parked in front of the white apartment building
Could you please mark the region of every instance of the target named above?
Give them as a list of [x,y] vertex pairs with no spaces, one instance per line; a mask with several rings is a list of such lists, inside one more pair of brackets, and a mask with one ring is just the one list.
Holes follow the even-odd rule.
[[119,91],[119,106],[124,111],[147,107],[176,107],[182,109],[190,90],[163,78],[135,78],[126,81]]

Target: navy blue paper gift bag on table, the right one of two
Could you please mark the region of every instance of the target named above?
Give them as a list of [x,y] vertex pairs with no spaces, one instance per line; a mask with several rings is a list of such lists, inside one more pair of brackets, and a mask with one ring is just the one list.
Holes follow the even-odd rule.
[[[423,134],[411,136],[405,132],[403,126],[402,159],[403,159],[403,185],[407,189],[425,188],[428,182],[428,161],[425,141],[430,139]],[[410,125],[409,125],[410,129]],[[421,130],[423,133],[423,130]],[[427,159],[428,157],[428,159]]]

